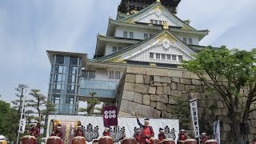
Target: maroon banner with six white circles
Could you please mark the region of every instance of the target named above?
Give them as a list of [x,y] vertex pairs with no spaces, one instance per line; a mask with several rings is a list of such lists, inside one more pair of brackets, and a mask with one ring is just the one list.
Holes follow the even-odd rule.
[[102,107],[104,126],[118,126],[117,106]]

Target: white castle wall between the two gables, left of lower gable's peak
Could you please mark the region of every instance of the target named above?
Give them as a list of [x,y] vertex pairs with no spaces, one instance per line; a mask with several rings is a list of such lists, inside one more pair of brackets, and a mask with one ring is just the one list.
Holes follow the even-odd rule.
[[123,31],[128,32],[128,38],[129,38],[129,32],[134,32],[134,39],[144,39],[144,34],[154,34],[157,32],[146,30],[146,29],[136,29],[136,28],[130,28],[130,27],[117,27],[114,36],[118,38],[123,38]]

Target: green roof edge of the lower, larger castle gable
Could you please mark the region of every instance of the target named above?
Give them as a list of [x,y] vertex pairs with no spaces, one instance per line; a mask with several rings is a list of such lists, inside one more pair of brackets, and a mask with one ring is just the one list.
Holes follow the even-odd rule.
[[152,35],[150,38],[146,38],[142,42],[135,43],[134,45],[128,46],[125,49],[120,50],[120,51],[118,51],[118,52],[116,52],[114,54],[106,55],[106,56],[101,57],[101,58],[96,58],[95,61],[106,62],[107,60],[110,60],[112,58],[117,58],[117,57],[121,56],[122,54],[126,54],[130,50],[136,49],[138,46],[142,46],[146,42],[150,42],[150,40],[152,40],[154,38],[158,38],[160,35],[162,35],[162,34],[164,34],[166,32],[168,34],[170,34],[172,37],[174,37],[176,41],[181,42],[183,45],[185,45],[187,48],[189,48],[191,51],[193,51],[195,53],[195,51],[193,49],[191,49],[190,46],[186,45],[186,43],[182,42],[179,38],[177,38],[173,34],[171,34],[170,30],[160,30],[160,31],[158,31],[158,33]]

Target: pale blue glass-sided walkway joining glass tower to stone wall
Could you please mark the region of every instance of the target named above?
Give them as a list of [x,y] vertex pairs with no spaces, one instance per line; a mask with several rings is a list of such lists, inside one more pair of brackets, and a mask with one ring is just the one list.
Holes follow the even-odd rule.
[[82,79],[79,95],[90,97],[90,92],[95,92],[96,98],[115,98],[118,82]]

